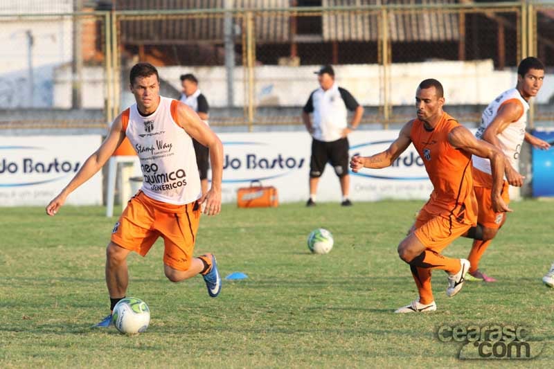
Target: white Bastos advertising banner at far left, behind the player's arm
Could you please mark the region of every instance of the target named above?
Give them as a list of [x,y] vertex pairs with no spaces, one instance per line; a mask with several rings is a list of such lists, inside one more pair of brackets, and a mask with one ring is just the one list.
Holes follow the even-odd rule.
[[[102,142],[100,135],[0,137],[0,206],[46,206]],[[68,197],[102,204],[102,172]]]

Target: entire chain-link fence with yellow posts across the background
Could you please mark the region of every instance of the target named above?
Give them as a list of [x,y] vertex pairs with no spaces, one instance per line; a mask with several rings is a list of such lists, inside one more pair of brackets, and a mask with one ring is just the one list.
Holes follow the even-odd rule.
[[[554,56],[554,5],[535,1],[108,5],[40,15],[0,9],[0,127],[105,127],[134,102],[128,73],[139,61],[159,67],[161,93],[172,98],[181,95],[181,74],[196,75],[214,126],[301,124],[322,64],[332,64],[337,84],[366,107],[366,127],[411,118],[425,78],[443,82],[447,111],[477,122],[490,100],[515,86],[522,57],[551,66]],[[552,96],[547,80],[531,122],[553,116]]]

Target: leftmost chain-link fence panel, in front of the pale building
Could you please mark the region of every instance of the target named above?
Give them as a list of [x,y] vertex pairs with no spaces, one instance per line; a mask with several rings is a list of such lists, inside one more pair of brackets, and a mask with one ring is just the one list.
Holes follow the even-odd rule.
[[105,127],[109,15],[0,19],[0,127]]

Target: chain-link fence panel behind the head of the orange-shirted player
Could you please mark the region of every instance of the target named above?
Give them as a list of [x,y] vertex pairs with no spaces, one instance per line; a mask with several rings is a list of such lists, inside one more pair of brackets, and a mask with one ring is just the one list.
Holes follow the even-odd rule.
[[413,109],[406,102],[413,100],[418,80],[436,78],[445,87],[445,109],[460,120],[478,122],[499,89],[515,85],[505,71],[521,60],[520,18],[517,6],[389,12],[391,75],[386,80],[393,109],[387,118],[411,118]]

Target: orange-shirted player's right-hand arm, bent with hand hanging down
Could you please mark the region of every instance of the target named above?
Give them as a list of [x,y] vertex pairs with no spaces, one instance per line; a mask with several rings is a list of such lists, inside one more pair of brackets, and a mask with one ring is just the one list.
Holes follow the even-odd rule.
[[477,139],[469,129],[463,126],[452,129],[448,134],[448,141],[452,147],[490,160],[492,172],[492,209],[496,213],[511,212],[512,210],[508,208],[508,205],[506,205],[501,196],[506,156],[494,145]]

